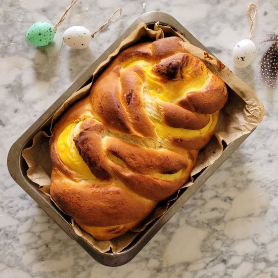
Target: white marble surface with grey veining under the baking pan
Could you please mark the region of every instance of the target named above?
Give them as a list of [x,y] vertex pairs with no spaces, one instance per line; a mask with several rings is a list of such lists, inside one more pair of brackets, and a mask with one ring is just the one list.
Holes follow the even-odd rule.
[[[146,9],[143,9],[143,3]],[[278,89],[260,80],[259,61],[278,32],[276,0],[254,0],[257,53],[245,69],[231,63],[234,45],[249,35],[242,1],[78,0],[59,32],[94,31],[121,7],[119,21],[84,50],[63,45],[60,56],[30,47],[28,27],[55,24],[67,0],[2,0],[0,5],[0,277],[256,277],[278,276]],[[71,240],[10,177],[13,142],[138,16],[174,16],[250,85],[267,115],[259,127],[129,263],[106,267]]]

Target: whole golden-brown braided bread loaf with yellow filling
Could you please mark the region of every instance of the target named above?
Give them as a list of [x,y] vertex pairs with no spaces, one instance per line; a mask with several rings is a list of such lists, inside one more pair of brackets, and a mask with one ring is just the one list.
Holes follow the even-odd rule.
[[188,181],[226,100],[180,38],[129,47],[55,125],[52,198],[96,239],[124,234]]

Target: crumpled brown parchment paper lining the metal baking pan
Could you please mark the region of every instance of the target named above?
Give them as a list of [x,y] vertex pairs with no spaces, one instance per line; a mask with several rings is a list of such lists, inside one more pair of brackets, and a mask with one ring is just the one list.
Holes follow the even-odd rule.
[[[241,79],[235,76],[218,59],[190,44],[186,38],[175,32],[172,28],[161,26],[159,22],[155,24],[153,30],[149,29],[145,23],[140,23],[137,28],[121,42],[118,49],[111,54],[105,62],[99,65],[94,72],[93,77],[100,73],[120,51],[124,50],[131,44],[140,42],[140,40],[146,36],[151,40],[157,40],[164,36],[179,36],[184,41],[184,49],[188,53],[199,57],[212,72],[222,78],[228,87],[228,101],[220,112],[218,127],[212,140],[203,150],[200,151],[196,166],[191,174],[191,179],[183,186],[188,187],[194,182],[195,174],[212,164],[222,154],[222,140],[228,145],[240,136],[251,132],[262,121],[265,110],[255,92]],[[72,103],[86,96],[91,85],[92,84],[90,83],[75,92],[54,114],[52,122],[55,122]],[[51,128],[52,125],[49,134],[51,134]],[[42,192],[50,196],[51,159],[49,151],[49,135],[42,131],[38,132],[34,136],[32,147],[23,150],[22,155],[29,166],[27,171],[28,177],[38,184],[38,188]],[[178,192],[170,200],[160,203],[156,209],[140,225],[133,228],[132,231],[128,231],[125,235],[110,241],[95,240],[92,236],[82,230],[73,219],[71,224],[78,236],[86,239],[100,252],[104,253],[111,249],[113,253],[118,253],[127,247],[138,233],[144,230],[149,223],[164,214],[167,211],[169,202],[175,200],[177,196]]]

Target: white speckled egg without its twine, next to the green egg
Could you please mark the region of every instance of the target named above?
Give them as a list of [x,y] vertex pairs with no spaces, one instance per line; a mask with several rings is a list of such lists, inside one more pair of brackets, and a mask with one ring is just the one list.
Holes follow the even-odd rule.
[[63,40],[71,48],[83,49],[90,44],[91,33],[83,26],[72,26],[64,32]]

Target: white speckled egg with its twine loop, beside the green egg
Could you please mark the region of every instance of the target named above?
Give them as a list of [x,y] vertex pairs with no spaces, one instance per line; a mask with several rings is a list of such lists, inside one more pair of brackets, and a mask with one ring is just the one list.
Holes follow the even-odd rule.
[[[112,20],[113,16],[117,12],[119,12],[120,14],[115,19]],[[92,33],[83,26],[72,26],[64,32],[63,41],[71,48],[84,49],[88,47],[88,45],[91,42],[91,39],[95,37],[95,34],[97,32],[101,31],[109,23],[118,20],[121,14],[122,14],[122,9],[118,8],[98,30]]]

